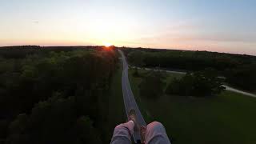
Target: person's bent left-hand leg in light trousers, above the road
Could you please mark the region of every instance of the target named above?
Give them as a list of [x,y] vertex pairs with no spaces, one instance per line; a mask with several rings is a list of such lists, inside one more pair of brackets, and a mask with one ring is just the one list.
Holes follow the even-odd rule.
[[114,128],[111,144],[130,144],[131,135],[134,134],[134,121],[122,123]]

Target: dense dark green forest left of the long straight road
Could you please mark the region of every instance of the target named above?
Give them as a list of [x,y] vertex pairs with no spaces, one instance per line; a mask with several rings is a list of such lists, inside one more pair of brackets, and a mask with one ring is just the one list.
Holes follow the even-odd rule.
[[2,47],[0,143],[109,142],[104,101],[117,66],[103,46]]

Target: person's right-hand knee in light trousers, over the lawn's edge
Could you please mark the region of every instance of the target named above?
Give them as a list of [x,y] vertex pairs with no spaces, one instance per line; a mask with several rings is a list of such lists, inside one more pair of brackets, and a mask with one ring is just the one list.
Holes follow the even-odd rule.
[[165,127],[160,122],[151,122],[146,126],[146,144],[170,144]]

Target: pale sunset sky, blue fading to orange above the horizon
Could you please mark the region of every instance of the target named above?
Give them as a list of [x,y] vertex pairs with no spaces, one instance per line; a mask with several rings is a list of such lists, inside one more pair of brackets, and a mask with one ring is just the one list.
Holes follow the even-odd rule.
[[256,1],[0,1],[0,46],[110,44],[256,55]]

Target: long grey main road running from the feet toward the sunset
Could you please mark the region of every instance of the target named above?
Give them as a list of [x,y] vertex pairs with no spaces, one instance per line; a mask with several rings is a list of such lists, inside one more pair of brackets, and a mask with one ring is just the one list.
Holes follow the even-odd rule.
[[[137,116],[137,122],[139,126],[146,126],[146,122],[144,121],[144,118],[142,117],[142,114],[140,110],[138,109],[137,103],[134,99],[133,91],[130,88],[130,82],[128,78],[128,64],[126,62],[126,57],[122,53],[121,50],[118,50],[118,52],[122,55],[122,95],[123,95],[123,101],[126,107],[126,115],[128,118],[129,110],[134,109],[136,111]],[[134,132],[134,142],[137,142],[140,140],[140,134],[139,132]]]

